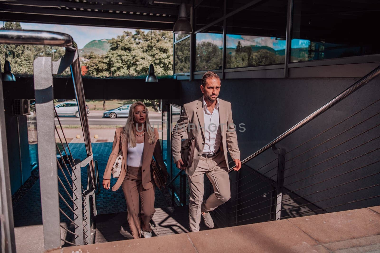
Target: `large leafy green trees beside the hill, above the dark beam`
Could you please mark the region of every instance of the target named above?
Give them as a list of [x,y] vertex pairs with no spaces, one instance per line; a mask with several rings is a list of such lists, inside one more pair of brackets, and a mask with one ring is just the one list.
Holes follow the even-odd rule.
[[106,55],[84,55],[89,75],[146,75],[151,63],[156,75],[173,75],[173,44],[169,31],[124,31],[108,43],[111,45]]

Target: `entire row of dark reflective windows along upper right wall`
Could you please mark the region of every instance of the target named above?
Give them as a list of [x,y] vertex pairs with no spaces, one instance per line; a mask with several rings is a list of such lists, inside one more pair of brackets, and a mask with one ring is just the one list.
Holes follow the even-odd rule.
[[[195,4],[193,17],[193,30],[199,31],[192,45],[195,46],[194,71],[283,64],[285,60],[291,63],[380,54],[372,31],[377,14],[380,14],[378,1],[340,3],[294,0],[289,58],[285,55],[287,22],[290,19],[288,1],[204,0],[198,3]],[[237,13],[231,13],[237,10]],[[205,28],[223,17],[225,27],[220,21]],[[223,32],[226,35],[224,66]],[[190,41],[187,43],[190,47]],[[183,48],[184,44],[178,47]],[[186,52],[190,50],[186,48]],[[188,72],[190,69],[188,58],[180,58],[181,55],[183,53],[180,52],[175,57],[175,64],[179,64],[175,67],[175,73]],[[342,64],[345,63],[342,61]]]

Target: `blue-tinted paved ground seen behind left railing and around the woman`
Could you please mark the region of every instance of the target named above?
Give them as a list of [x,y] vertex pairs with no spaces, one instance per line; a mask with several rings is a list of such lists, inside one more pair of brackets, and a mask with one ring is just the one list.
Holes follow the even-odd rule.
[[[69,144],[71,153],[73,154],[74,159],[83,160],[86,157],[86,150],[84,148],[84,143],[70,143]],[[100,180],[103,177],[103,173],[108,161],[109,154],[111,153],[112,142],[103,142],[103,143],[92,143],[93,150],[93,159],[98,161],[98,171]],[[166,154],[166,149],[165,154]],[[68,178],[68,181],[71,182],[71,179],[68,176],[68,172],[66,168],[62,168],[64,174]],[[63,176],[63,173],[58,169],[60,179],[62,180],[65,187],[68,189],[71,194],[71,190],[68,187],[68,183]],[[81,168],[81,178],[84,189],[87,187],[87,168]],[[111,185],[115,184],[116,179],[111,179]],[[67,194],[63,190],[63,187],[59,184],[59,192],[65,198],[65,200],[69,200]],[[166,202],[162,197],[160,191],[156,190],[156,201],[155,207],[165,207]],[[122,189],[120,187],[119,190],[113,192],[112,190],[104,190],[102,189],[100,194],[96,196],[97,200],[97,209],[98,214],[110,214],[110,213],[118,213],[127,211],[127,207],[125,204],[124,195]],[[70,203],[71,201],[68,201]],[[65,206],[62,200],[60,200],[60,207],[70,215],[70,209]],[[72,206],[71,206],[72,207]],[[35,185],[28,191],[28,193],[17,203],[17,205],[13,208],[14,215],[14,225],[15,226],[26,226],[26,225],[35,225],[42,223],[41,217],[41,195],[40,195],[40,180],[38,180]],[[61,221],[66,221],[63,215],[61,215]]]

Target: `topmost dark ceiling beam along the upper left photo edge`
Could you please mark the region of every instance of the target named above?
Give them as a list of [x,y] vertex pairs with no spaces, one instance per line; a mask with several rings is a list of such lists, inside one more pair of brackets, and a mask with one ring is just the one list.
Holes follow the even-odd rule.
[[83,8],[83,9],[98,9],[98,10],[112,10],[112,11],[127,11],[129,12],[140,12],[140,13],[154,13],[154,14],[166,14],[166,15],[178,15],[177,8],[163,8],[160,6],[148,5],[147,7],[141,5],[119,5],[119,4],[92,4],[92,3],[83,3],[83,2],[63,2],[63,1],[41,1],[33,0],[28,2],[15,1],[15,2],[3,2],[4,5],[11,6],[32,6],[32,7],[51,7],[58,9],[68,8]]

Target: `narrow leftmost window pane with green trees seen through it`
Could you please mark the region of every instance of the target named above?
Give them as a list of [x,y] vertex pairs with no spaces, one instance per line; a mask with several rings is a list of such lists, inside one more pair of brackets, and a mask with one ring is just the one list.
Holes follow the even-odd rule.
[[174,74],[190,72],[190,37],[174,45]]

